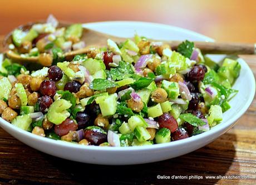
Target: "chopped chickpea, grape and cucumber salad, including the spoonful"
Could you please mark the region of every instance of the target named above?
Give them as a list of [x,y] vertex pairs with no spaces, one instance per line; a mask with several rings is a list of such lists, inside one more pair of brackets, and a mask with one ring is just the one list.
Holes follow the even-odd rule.
[[[203,56],[193,42],[134,39],[67,59],[85,47],[81,24],[58,28],[55,19],[16,29],[9,49],[23,57],[46,55],[51,65],[29,69],[0,59],[0,114],[41,137],[78,144],[128,147],[174,142],[219,124],[240,64]],[[26,47],[28,46],[28,47]],[[49,61],[48,61],[49,62]]]

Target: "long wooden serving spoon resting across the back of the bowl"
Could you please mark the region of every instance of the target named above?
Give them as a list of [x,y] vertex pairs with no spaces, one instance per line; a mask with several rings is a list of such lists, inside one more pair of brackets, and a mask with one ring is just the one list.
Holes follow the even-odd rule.
[[[19,26],[19,29],[26,31],[32,27],[35,23],[28,23],[23,26]],[[59,23],[59,27],[68,27],[71,23],[61,22]],[[85,41],[87,47],[78,49],[76,51],[71,51],[65,53],[66,58],[71,58],[76,54],[87,53],[90,51],[91,47],[104,47],[106,46],[107,39],[112,39],[115,42],[124,42],[127,38],[115,37],[109,34],[100,33],[97,31],[93,31],[91,29],[83,28],[83,34],[81,41]],[[152,42],[163,42],[170,44],[173,50],[176,50],[178,45],[182,41],[156,41],[150,39]],[[4,41],[3,47],[6,49],[6,54],[9,58],[13,59],[16,62],[32,62],[32,63],[40,63],[39,57],[22,57],[19,54],[9,50],[9,44],[12,43],[12,32],[9,33]],[[254,44],[245,44],[245,43],[218,43],[218,42],[194,42],[195,47],[199,48],[202,53],[206,54],[255,54],[255,45]],[[42,63],[41,63],[42,64]],[[43,65],[43,64],[42,64]],[[49,64],[48,64],[49,66]]]

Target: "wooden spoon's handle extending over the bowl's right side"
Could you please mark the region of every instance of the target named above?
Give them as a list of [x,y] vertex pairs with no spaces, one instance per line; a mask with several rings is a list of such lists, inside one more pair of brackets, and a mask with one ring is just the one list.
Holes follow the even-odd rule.
[[[171,41],[171,49],[176,50],[180,41]],[[255,44],[245,43],[219,43],[219,42],[194,42],[204,54],[256,54]]]

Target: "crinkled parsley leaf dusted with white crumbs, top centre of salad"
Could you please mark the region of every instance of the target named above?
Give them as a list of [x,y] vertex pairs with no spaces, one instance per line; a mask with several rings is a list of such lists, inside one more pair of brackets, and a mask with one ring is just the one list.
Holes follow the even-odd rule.
[[120,61],[119,66],[116,68],[111,68],[110,74],[112,79],[120,80],[124,78],[131,77],[134,74],[134,68],[131,64]]

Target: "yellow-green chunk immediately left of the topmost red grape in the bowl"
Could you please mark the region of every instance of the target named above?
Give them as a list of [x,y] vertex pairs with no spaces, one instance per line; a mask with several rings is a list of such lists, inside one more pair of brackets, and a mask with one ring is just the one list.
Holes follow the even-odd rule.
[[88,58],[86,61],[83,61],[82,65],[93,75],[96,71],[106,69],[104,62],[101,59],[92,59]]

